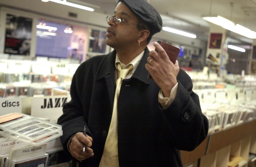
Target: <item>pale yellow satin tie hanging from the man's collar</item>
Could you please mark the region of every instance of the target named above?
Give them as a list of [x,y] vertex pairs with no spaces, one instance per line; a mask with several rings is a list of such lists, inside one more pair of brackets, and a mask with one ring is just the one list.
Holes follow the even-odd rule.
[[113,113],[112,113],[111,123],[108,130],[108,136],[106,139],[106,143],[105,143],[104,151],[102,154],[102,158],[100,160],[99,167],[119,167],[118,148],[117,148],[118,98],[119,98],[119,92],[120,92],[122,80],[132,70],[132,68],[133,68],[133,65],[130,65],[129,69],[121,69],[120,64],[119,63],[117,64],[119,77],[117,79],[117,86],[115,89]]

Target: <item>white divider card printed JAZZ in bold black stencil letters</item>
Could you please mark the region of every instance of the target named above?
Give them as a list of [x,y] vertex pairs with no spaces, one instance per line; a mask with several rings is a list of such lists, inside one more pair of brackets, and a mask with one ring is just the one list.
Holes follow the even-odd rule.
[[47,118],[50,122],[57,123],[59,116],[63,114],[63,105],[70,100],[70,96],[34,97],[31,101],[31,116]]

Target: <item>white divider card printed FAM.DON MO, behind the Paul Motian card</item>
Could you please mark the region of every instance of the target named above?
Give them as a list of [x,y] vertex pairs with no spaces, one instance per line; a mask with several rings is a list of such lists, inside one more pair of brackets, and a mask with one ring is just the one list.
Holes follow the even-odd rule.
[[0,155],[9,154],[12,148],[25,145],[28,145],[28,143],[23,143],[19,140],[14,140],[8,137],[2,137],[0,138]]

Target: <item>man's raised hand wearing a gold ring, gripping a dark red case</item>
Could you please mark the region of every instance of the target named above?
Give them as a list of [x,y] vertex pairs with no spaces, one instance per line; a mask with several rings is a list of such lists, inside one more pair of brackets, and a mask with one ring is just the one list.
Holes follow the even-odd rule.
[[171,90],[177,83],[176,78],[180,71],[180,67],[177,60],[175,64],[171,62],[160,44],[154,42],[153,45],[158,50],[158,53],[156,51],[150,51],[147,58],[148,63],[145,64],[145,67],[156,84],[162,89],[163,95],[169,98]]

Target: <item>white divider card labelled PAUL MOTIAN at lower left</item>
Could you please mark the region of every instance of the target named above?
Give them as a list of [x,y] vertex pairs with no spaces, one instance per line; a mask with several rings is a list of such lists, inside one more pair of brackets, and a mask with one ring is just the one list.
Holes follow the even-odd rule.
[[37,156],[46,153],[47,144],[38,146],[21,146],[12,148],[9,153],[9,161],[20,160],[22,158],[28,158],[30,156]]

